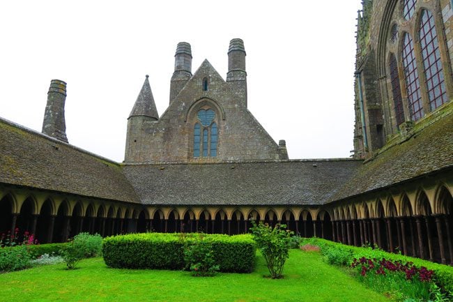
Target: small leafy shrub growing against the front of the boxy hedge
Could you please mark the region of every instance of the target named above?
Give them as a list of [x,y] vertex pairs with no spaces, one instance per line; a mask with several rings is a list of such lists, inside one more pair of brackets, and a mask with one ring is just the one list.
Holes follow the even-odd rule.
[[184,246],[185,269],[192,271],[195,276],[212,276],[219,271],[220,266],[215,264],[213,243],[204,239],[200,234],[198,241],[190,241]]

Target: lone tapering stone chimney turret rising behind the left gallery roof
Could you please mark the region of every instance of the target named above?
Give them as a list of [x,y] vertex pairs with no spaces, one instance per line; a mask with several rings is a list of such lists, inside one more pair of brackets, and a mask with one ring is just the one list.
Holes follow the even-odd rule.
[[66,82],[52,80],[47,93],[43,133],[62,142],[68,142],[65,122]]

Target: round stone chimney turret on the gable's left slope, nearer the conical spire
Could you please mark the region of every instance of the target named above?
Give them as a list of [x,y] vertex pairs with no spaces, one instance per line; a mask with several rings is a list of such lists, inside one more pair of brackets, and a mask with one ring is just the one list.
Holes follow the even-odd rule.
[[192,77],[192,50],[187,42],[176,47],[175,70],[170,82],[170,103]]

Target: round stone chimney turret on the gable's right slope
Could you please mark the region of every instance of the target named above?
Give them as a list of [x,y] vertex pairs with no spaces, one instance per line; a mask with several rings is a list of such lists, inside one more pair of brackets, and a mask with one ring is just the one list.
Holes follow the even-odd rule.
[[230,41],[228,50],[227,82],[236,95],[238,105],[247,107],[247,72],[245,71],[245,48],[241,39]]

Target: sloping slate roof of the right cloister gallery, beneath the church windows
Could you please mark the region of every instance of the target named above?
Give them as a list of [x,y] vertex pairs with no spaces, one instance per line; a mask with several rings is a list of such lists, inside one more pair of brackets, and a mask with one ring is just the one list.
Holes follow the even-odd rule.
[[363,192],[445,170],[453,170],[453,113],[438,116],[405,142],[368,160],[332,197],[344,199]]

